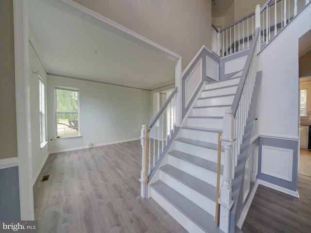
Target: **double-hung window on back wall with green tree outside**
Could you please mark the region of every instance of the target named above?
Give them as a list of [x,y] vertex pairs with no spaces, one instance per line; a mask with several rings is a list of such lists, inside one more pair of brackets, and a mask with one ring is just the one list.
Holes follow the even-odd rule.
[[79,89],[55,86],[56,137],[79,136]]

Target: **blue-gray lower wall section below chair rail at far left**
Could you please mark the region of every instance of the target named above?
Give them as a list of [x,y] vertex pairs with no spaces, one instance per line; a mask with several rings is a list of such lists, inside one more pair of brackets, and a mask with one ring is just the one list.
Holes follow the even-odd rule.
[[18,167],[0,169],[0,219],[20,220]]

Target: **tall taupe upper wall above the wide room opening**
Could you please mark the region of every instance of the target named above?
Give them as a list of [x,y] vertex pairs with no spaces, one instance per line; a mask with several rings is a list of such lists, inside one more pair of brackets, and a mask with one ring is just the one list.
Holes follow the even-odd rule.
[[210,0],[74,0],[182,56],[182,69],[199,49],[211,49]]

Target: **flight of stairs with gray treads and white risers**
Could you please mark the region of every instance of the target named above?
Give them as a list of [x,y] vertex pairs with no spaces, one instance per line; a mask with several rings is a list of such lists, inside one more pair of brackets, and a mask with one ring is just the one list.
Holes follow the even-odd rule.
[[150,185],[150,196],[189,232],[221,232],[211,227],[215,226],[218,133],[240,76],[205,84],[157,171],[159,179]]

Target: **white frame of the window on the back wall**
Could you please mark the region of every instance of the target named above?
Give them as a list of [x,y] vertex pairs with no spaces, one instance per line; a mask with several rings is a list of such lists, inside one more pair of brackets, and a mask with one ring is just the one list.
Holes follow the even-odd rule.
[[[72,112],[57,112],[57,96],[56,96],[56,90],[57,89],[66,89],[71,91],[76,91],[78,93],[78,111],[72,111]],[[62,86],[62,85],[54,85],[54,111],[55,111],[55,138],[57,139],[64,139],[64,138],[76,138],[81,137],[81,128],[80,128],[80,89],[77,87],[71,87],[71,86]],[[68,136],[58,136],[57,133],[57,113],[77,113],[78,114],[78,134],[74,135],[68,135]]]

